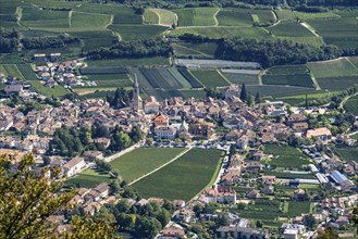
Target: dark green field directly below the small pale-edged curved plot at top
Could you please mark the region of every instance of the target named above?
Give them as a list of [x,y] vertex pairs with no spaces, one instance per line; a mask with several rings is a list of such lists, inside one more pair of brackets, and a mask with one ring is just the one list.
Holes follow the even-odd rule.
[[111,25],[109,28],[120,34],[122,40],[155,38],[166,29],[158,25]]

